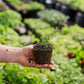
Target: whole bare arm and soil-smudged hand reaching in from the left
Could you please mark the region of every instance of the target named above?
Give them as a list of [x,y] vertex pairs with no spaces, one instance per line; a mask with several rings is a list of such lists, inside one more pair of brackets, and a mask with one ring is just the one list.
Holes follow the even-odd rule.
[[33,46],[16,48],[0,45],[0,62],[19,63],[25,67],[48,69],[51,69],[52,65],[54,65],[54,62],[51,62],[50,64],[36,64]]

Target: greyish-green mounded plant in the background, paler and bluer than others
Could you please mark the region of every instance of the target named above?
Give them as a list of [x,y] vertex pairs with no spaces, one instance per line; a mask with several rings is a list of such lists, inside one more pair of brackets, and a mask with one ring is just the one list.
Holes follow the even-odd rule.
[[61,12],[53,9],[40,11],[38,12],[38,16],[44,21],[49,22],[52,26],[63,26],[69,18]]

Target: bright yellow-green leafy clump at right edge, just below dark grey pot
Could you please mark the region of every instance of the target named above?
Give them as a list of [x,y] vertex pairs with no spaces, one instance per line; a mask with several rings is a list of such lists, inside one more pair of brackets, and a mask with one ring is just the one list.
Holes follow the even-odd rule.
[[62,29],[62,34],[71,36],[74,40],[84,41],[84,29],[78,25],[71,27],[64,27]]

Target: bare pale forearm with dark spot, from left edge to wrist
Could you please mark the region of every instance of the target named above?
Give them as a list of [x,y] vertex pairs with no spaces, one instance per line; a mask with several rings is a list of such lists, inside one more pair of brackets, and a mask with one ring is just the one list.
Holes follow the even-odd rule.
[[0,45],[0,62],[17,62],[20,48]]

